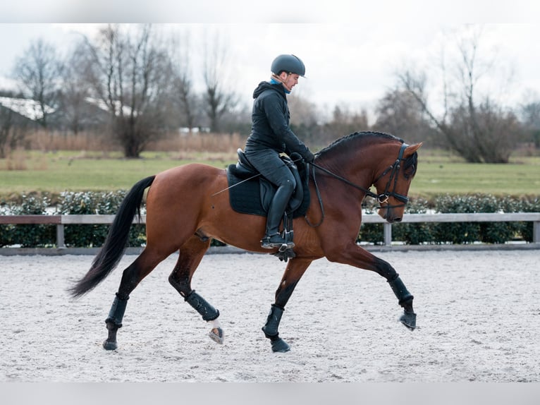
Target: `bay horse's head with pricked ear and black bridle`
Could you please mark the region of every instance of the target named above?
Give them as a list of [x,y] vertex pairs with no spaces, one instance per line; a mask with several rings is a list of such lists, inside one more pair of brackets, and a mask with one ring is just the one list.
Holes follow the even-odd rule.
[[387,222],[400,222],[405,205],[409,201],[407,193],[410,183],[416,174],[417,150],[422,143],[407,145],[403,143],[398,157],[390,167],[381,167],[376,174],[373,185],[379,200],[379,215]]

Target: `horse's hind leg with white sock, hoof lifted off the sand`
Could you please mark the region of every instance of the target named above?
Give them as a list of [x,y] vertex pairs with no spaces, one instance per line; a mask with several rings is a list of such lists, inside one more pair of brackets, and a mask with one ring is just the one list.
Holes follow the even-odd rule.
[[190,304],[201,316],[202,319],[211,324],[209,337],[219,344],[223,344],[223,329],[219,324],[219,310],[211,306],[202,296],[191,289],[191,279],[195,270],[199,266],[204,253],[208,250],[210,241],[207,238],[192,236],[178,254],[178,261],[173,272],[168,277],[168,282],[183,296],[184,300]]

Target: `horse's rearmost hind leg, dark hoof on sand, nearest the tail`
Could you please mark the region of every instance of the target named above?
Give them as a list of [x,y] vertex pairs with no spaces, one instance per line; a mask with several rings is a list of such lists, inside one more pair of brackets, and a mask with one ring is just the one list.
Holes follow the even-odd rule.
[[[165,257],[165,256],[164,256]],[[109,316],[105,320],[109,335],[103,342],[103,347],[106,350],[116,350],[118,344],[116,342],[116,334],[118,329],[122,327],[122,320],[125,313],[125,307],[128,304],[128,299],[131,291],[144,279],[154,267],[158,265],[164,257],[156,256],[149,253],[145,249],[137,259],[122,274],[122,280],[118,287],[118,292],[109,311]]]

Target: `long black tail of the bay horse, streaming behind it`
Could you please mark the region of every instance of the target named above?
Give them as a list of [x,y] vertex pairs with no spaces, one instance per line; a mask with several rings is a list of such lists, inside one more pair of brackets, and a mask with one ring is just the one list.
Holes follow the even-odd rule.
[[140,205],[145,189],[153,183],[155,177],[149,176],[138,181],[125,195],[111,224],[105,243],[92,262],[92,267],[85,274],[85,277],[82,277],[75,286],[69,289],[73,297],[78,298],[86,294],[116,268],[127,246],[135,214],[138,214],[140,218]]

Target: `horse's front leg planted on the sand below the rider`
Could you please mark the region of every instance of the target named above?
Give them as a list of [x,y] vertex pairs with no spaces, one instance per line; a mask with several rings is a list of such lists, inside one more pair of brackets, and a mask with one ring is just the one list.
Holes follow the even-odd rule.
[[266,324],[262,327],[264,336],[271,341],[272,351],[274,352],[286,352],[290,350],[290,346],[286,341],[279,337],[279,323],[281,322],[281,316],[285,310],[285,306],[289,301],[291,294],[296,287],[296,284],[302,278],[302,275],[307,270],[307,267],[311,264],[312,260],[293,258],[289,260],[285,269],[285,273],[281,278],[281,283],[276,290],[276,301],[272,304],[268,318],[266,318]]

